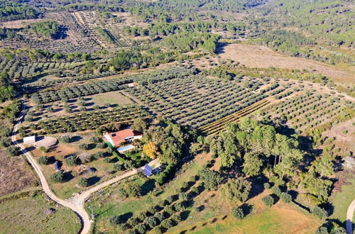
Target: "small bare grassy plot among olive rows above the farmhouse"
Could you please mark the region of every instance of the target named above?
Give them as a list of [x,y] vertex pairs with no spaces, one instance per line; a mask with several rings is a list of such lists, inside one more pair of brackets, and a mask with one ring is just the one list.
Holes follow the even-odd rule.
[[119,106],[124,106],[131,104],[132,101],[126,96],[123,96],[119,91],[111,91],[105,94],[96,94],[89,96],[90,101],[94,102],[95,105],[103,106],[104,104],[116,104]]

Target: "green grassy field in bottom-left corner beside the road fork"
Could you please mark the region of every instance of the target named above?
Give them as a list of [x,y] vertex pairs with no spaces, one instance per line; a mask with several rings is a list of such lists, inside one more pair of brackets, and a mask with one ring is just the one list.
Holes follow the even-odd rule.
[[[55,213],[46,215],[46,208]],[[45,201],[42,194],[0,203],[0,233],[77,233],[80,221],[67,208]]]

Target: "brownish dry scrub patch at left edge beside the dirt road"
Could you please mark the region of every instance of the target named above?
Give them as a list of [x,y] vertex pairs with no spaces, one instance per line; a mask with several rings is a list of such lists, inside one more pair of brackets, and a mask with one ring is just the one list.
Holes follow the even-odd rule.
[[9,157],[0,150],[0,196],[33,186],[37,178],[22,157]]

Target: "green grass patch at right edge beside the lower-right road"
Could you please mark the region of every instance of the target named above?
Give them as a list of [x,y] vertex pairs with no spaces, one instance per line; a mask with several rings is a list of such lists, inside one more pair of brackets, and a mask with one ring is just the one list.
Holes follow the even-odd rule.
[[332,204],[334,205],[334,213],[331,218],[338,218],[340,222],[346,221],[346,211],[351,201],[355,199],[355,178],[347,179],[348,184],[342,186],[342,191],[334,194]]

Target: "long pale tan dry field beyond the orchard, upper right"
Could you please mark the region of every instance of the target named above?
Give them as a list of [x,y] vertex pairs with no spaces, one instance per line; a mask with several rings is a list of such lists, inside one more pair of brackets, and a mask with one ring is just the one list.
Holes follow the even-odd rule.
[[300,57],[281,55],[266,46],[229,44],[219,48],[222,59],[240,62],[247,67],[279,67],[289,69],[308,69],[324,74],[341,84],[355,84],[355,70],[342,71],[322,62]]

